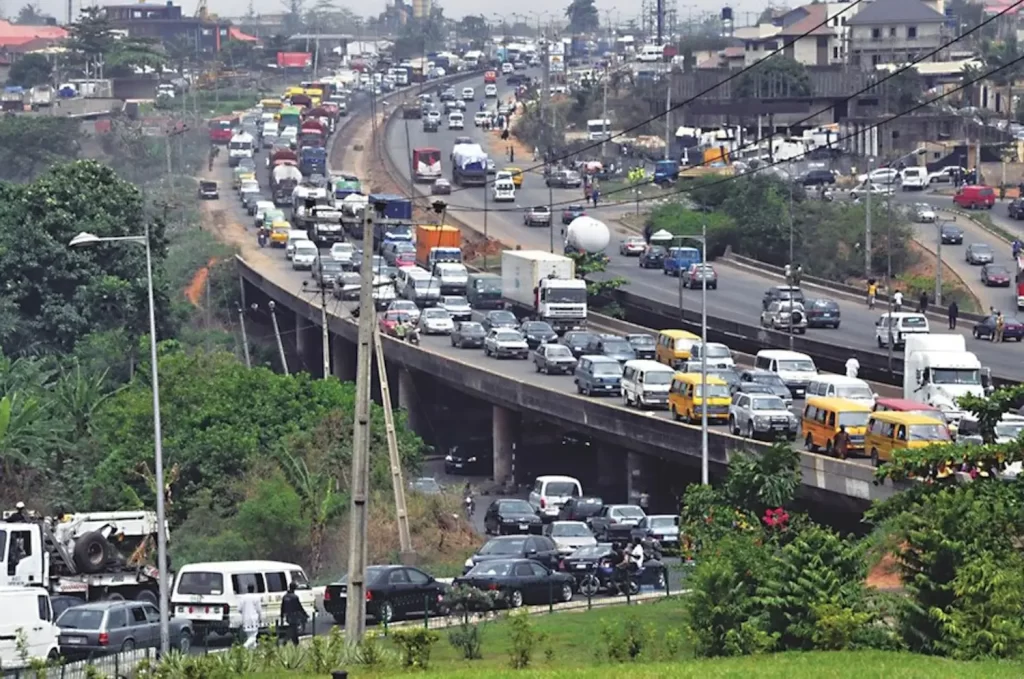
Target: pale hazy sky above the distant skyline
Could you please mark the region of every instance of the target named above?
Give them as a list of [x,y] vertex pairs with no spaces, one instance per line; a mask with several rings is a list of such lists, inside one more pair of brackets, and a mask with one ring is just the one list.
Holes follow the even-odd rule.
[[[75,10],[78,11],[82,0],[73,0],[75,3]],[[154,0],[150,0],[151,2]],[[160,1],[160,0],[156,0]],[[444,7],[444,14],[453,18],[458,18],[467,13],[480,14],[483,13],[495,22],[500,22],[501,18],[495,13],[500,5],[494,5],[496,7],[495,11],[487,12],[484,11],[486,5],[481,6],[481,3],[477,0],[437,0]],[[654,0],[650,0],[653,2]],[[68,3],[67,0],[38,0],[40,7],[43,11],[56,16],[61,23],[63,23],[68,14]],[[183,13],[191,14],[196,9],[196,0],[174,0],[175,4],[182,4]],[[312,5],[312,0],[306,0],[307,4]],[[559,0],[559,3],[552,3],[550,0],[517,0],[515,3],[515,9],[521,14],[528,14],[529,12],[543,12],[552,11],[559,15],[564,14],[564,6],[568,5],[568,0]],[[721,0],[666,0],[671,7],[673,2],[675,3],[676,10],[680,19],[684,19],[687,14],[700,15],[706,12],[719,12],[722,9],[723,2]],[[220,14],[221,16],[241,16],[245,14],[249,9],[250,0],[207,0],[210,11],[213,13]],[[284,11],[286,3],[282,0],[252,0],[253,6],[257,13],[278,13]],[[26,4],[26,0],[0,0],[0,8],[3,9],[4,14],[13,15],[17,13],[18,8]],[[99,4],[127,4],[126,2],[100,2]],[[384,9],[384,0],[371,0],[368,3],[355,3],[355,2],[344,2],[343,0],[336,0],[335,4],[338,6],[348,6],[353,9],[356,13],[361,13],[366,15],[369,12],[380,13]],[[766,0],[737,0],[735,2],[729,3],[733,8],[733,12],[736,14],[736,25],[744,26],[753,20],[748,20],[746,13],[752,12],[755,15],[760,13],[762,9],[769,3]],[[780,2],[774,2],[773,4],[783,4]],[[800,4],[800,3],[794,3]],[[507,5],[506,5],[507,6]],[[552,7],[559,7],[558,10],[552,10]],[[612,23],[617,22],[626,23],[630,17],[635,17],[640,11],[640,2],[637,0],[597,0],[597,7],[601,12],[602,24],[606,20],[606,17],[610,15]],[[372,8],[372,9],[371,9]],[[608,12],[606,14],[606,12]],[[508,20],[514,20],[511,16],[511,12],[506,12]],[[537,20],[536,17],[531,20]],[[542,19],[545,20],[545,19]]]

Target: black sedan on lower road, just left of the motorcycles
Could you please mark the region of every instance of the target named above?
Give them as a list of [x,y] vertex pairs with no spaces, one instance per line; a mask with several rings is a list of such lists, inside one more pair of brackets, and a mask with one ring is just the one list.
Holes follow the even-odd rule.
[[502,603],[518,608],[524,603],[562,603],[572,600],[575,580],[530,559],[496,559],[473,566],[456,587],[497,592]]

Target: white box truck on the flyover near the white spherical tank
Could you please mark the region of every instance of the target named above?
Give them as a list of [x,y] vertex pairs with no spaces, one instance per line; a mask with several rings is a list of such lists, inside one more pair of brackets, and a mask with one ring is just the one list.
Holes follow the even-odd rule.
[[502,297],[562,333],[587,326],[587,282],[575,262],[543,250],[502,252]]

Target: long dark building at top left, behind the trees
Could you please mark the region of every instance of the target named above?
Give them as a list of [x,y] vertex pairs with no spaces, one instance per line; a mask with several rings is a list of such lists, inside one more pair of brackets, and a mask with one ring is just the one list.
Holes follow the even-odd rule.
[[181,7],[169,0],[166,4],[105,5],[102,9],[115,29],[128,31],[133,38],[180,40],[195,45],[197,52],[219,52],[228,40],[256,41],[230,22],[205,13],[184,15]]

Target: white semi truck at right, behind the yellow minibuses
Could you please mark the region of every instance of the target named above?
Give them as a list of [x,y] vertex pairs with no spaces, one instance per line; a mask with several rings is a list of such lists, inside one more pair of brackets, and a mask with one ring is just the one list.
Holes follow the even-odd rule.
[[963,335],[906,335],[903,397],[938,408],[952,426],[964,418],[957,398],[985,395],[986,373]]

